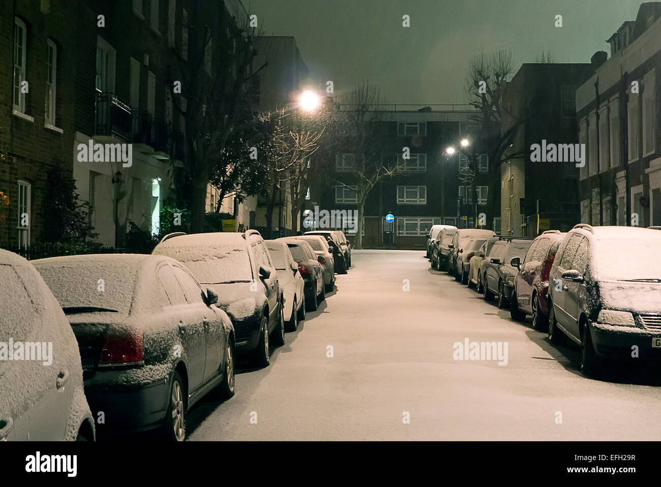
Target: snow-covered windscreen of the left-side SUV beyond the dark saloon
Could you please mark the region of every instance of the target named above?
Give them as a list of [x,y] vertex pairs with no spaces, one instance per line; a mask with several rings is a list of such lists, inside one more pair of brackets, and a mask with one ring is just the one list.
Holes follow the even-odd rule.
[[253,268],[245,244],[169,246],[163,252],[182,262],[200,284],[253,279]]

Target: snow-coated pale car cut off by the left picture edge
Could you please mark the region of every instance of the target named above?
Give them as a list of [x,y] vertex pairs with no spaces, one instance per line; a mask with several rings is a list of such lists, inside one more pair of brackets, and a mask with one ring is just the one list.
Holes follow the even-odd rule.
[[30,262],[7,250],[0,296],[0,441],[94,441],[71,326]]

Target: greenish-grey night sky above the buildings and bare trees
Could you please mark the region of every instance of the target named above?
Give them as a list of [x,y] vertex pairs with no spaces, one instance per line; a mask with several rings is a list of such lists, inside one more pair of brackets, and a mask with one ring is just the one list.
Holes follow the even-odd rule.
[[[335,96],[360,81],[387,103],[462,104],[469,59],[511,50],[588,63],[642,0],[243,0],[266,35],[294,36],[309,87]],[[403,15],[410,17],[404,27]],[[562,27],[555,26],[562,15]]]

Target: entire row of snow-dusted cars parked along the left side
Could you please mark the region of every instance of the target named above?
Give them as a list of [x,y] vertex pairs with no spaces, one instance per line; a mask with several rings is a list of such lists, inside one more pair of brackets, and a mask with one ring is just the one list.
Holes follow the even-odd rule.
[[[315,234],[171,233],[151,255],[32,262],[0,250],[0,440],[182,441],[196,402],[234,395],[237,357],[268,366],[317,309],[336,257],[346,274],[344,233]],[[38,359],[4,357],[16,344]]]

